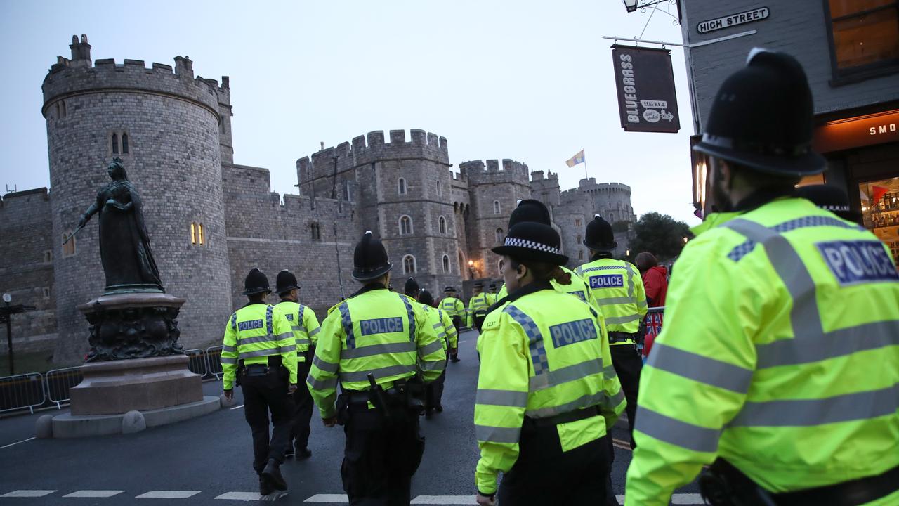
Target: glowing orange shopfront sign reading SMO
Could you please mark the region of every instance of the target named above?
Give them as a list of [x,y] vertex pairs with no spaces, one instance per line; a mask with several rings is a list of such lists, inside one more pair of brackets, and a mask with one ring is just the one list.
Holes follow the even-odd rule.
[[826,123],[814,131],[821,153],[899,141],[899,110]]

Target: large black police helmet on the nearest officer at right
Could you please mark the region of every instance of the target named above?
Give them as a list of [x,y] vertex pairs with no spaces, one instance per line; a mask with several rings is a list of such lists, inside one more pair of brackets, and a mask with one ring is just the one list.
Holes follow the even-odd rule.
[[760,172],[808,176],[824,170],[812,151],[812,91],[786,53],[754,49],[718,89],[702,141],[693,149]]

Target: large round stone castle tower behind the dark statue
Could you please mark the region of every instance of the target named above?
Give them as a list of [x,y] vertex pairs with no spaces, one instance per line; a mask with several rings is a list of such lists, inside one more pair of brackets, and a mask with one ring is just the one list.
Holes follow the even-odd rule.
[[[194,348],[221,338],[231,310],[222,150],[230,149],[224,86],[193,76],[190,59],[175,68],[140,60],[98,59],[85,35],[73,36],[72,59],[59,57],[42,86],[47,119],[54,270],[59,340],[55,361],[75,363],[87,351],[88,324],[76,311],[102,293],[97,217],[75,247],[60,245],[109,183],[105,167],[123,160],[144,217],[166,292],[187,299],[181,343]],[[227,134],[227,135],[226,135]],[[229,151],[227,152],[229,155]]]

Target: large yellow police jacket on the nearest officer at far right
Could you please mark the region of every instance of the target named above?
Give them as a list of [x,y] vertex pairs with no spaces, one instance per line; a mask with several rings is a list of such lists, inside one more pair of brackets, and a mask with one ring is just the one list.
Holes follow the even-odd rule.
[[[716,456],[771,492],[899,465],[889,250],[803,199],[731,218],[673,269],[640,378],[628,504],[668,504]],[[899,492],[872,504],[899,504]]]

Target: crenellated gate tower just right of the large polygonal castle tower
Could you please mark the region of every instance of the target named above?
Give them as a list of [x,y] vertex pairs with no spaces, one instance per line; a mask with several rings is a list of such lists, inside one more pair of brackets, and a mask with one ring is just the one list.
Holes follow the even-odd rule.
[[458,165],[468,180],[471,212],[467,221],[468,258],[475,277],[499,277],[499,261],[491,248],[509,231],[509,215],[518,201],[530,198],[528,166],[505,158],[467,161]]

